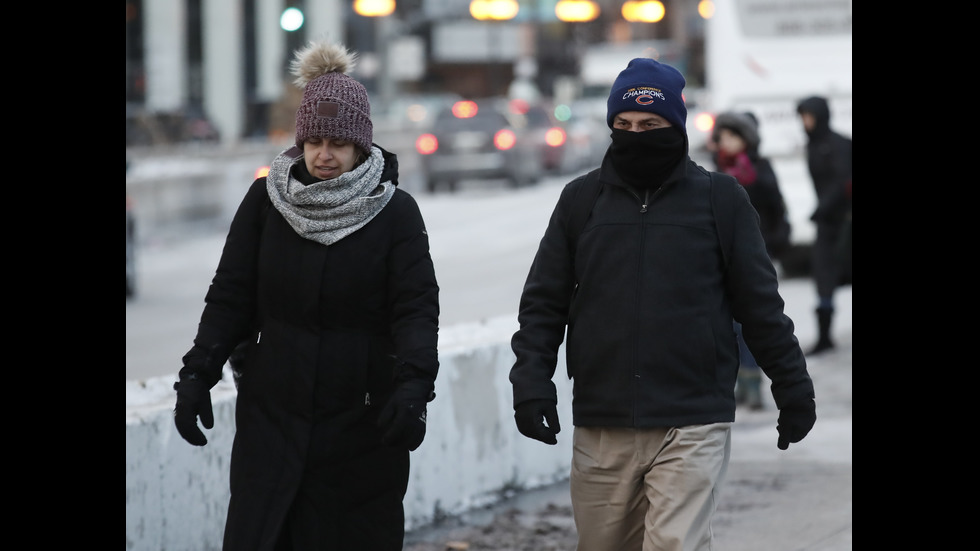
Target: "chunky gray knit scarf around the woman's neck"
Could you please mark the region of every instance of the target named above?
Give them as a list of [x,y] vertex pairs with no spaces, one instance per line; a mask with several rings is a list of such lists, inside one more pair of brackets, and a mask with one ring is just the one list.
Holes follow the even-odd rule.
[[[287,150],[288,151],[288,150]],[[303,155],[280,153],[269,167],[269,199],[301,237],[330,245],[371,221],[395,194],[391,181],[381,181],[384,158],[371,148],[360,166],[331,180],[303,185],[291,174]]]

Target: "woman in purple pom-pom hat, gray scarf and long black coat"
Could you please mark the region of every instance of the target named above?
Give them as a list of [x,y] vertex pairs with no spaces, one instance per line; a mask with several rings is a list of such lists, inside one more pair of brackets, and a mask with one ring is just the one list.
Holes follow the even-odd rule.
[[224,551],[400,551],[409,452],[439,367],[425,223],[372,142],[355,54],[309,43],[295,146],[235,213],[174,420],[195,446],[232,350],[240,377]]

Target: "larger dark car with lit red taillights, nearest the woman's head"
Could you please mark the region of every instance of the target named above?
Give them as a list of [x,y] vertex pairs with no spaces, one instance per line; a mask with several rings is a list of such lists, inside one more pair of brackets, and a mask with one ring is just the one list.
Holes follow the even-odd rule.
[[428,191],[460,181],[504,179],[513,187],[537,182],[544,159],[527,128],[514,126],[499,100],[460,100],[440,111],[415,141]]

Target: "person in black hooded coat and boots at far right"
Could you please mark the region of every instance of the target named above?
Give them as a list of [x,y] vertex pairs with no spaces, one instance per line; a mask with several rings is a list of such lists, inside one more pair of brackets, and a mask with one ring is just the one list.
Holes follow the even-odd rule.
[[842,236],[850,238],[846,224],[851,212],[851,139],[831,129],[826,98],[805,98],[796,110],[807,135],[807,167],[817,196],[817,207],[810,216],[817,230],[810,264],[817,288],[818,336],[816,344],[807,351],[810,355],[834,348],[830,338],[834,291],[850,279],[845,273],[849,262],[841,254],[840,241]]

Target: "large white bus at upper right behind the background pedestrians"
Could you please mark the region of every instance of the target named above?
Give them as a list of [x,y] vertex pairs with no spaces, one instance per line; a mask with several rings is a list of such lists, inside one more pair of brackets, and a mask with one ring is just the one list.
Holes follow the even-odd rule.
[[799,100],[830,102],[851,135],[851,0],[714,0],[705,21],[705,86],[714,113],[751,111],[763,155],[801,155]]

